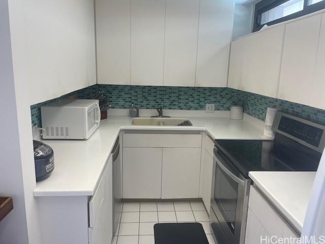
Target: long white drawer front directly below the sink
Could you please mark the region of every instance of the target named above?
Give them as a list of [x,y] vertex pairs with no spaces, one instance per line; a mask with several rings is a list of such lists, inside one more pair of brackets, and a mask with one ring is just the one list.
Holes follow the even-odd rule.
[[201,147],[201,134],[124,134],[123,147]]

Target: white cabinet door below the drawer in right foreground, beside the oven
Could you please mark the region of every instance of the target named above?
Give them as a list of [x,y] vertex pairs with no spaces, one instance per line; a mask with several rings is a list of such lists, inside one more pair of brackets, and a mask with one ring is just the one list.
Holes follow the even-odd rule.
[[266,230],[261,225],[261,223],[259,223],[259,221],[256,219],[253,212],[248,208],[245,243],[247,244],[266,243],[265,241],[264,242],[261,241],[261,237],[266,238],[268,236],[269,234],[266,232]]

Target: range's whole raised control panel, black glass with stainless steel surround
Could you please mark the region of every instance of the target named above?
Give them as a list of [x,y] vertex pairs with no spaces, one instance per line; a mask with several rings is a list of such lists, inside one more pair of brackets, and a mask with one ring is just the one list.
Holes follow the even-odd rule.
[[325,126],[313,123],[307,119],[278,112],[274,118],[272,130],[282,134],[319,153],[325,147]]

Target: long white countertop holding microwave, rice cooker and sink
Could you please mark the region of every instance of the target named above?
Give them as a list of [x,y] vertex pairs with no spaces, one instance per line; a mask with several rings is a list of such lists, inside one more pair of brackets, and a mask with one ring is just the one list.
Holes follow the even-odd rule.
[[213,139],[263,138],[263,121],[249,115],[243,120],[222,116],[179,116],[189,119],[190,127],[132,126],[132,118],[109,116],[88,140],[44,140],[53,148],[55,169],[49,178],[37,182],[34,196],[92,196],[120,130],[200,130]]

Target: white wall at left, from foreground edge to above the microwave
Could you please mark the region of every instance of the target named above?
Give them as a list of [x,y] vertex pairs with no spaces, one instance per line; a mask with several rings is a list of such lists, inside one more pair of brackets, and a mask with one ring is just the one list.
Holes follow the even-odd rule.
[[0,0],[0,243],[41,244],[30,105],[94,84],[92,0]]

